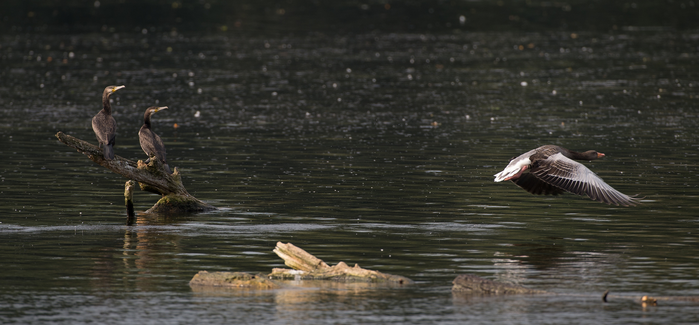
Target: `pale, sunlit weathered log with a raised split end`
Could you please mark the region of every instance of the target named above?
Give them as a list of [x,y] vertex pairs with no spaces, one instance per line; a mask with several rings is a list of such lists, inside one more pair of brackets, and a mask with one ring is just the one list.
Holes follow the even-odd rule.
[[280,279],[303,279],[303,280],[353,280],[366,282],[396,282],[399,284],[415,283],[408,277],[381,273],[376,270],[360,268],[359,264],[349,267],[347,263],[340,262],[334,266],[329,266],[322,259],[318,259],[305,250],[301,250],[294,244],[282,242],[277,243],[273,250],[279,257],[284,259],[284,264],[294,268],[273,268],[270,277]]

